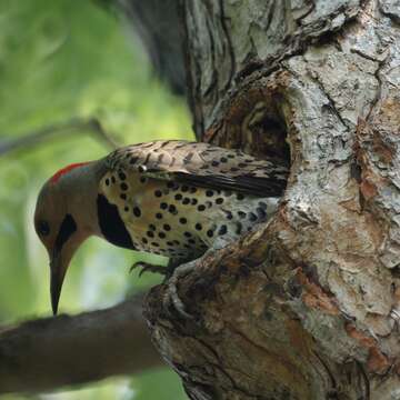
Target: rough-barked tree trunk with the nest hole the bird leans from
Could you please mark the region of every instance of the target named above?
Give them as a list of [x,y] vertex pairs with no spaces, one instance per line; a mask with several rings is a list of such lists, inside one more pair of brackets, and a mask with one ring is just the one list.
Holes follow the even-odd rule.
[[179,280],[196,319],[151,290],[154,343],[191,399],[398,399],[399,1],[180,8],[197,136],[291,173],[269,223]]

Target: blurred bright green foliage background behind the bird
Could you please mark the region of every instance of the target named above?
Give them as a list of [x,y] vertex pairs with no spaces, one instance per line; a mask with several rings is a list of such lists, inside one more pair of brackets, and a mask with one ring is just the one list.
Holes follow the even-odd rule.
[[[0,0],[0,143],[72,117],[99,118],[121,144],[192,138],[183,100],[154,79],[140,44],[117,18],[89,0]],[[109,150],[82,130],[0,156],[0,324],[50,314],[48,260],[32,226],[41,184],[59,168]],[[69,270],[61,312],[112,306],[157,283],[158,277],[128,274],[132,262],[146,258],[89,240]],[[159,370],[30,398],[184,394],[174,373]]]

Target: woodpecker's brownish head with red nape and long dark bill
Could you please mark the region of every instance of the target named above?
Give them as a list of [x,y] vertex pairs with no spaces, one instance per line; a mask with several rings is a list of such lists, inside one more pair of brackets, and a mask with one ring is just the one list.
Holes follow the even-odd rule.
[[34,211],[34,229],[50,259],[50,293],[54,314],[69,263],[80,244],[93,234],[88,203],[90,181],[86,178],[88,166],[71,164],[52,176],[42,187]]

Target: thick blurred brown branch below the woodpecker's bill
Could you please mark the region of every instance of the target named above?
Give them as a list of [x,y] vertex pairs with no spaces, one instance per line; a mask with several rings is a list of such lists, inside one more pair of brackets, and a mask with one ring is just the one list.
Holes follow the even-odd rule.
[[142,299],[0,328],[0,394],[48,391],[162,366],[142,317]]

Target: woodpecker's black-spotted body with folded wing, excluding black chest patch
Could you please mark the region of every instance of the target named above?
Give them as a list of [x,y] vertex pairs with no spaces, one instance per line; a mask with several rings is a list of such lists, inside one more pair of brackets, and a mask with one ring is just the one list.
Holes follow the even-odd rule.
[[191,260],[276,210],[287,170],[238,150],[154,141],[106,158],[100,191],[118,206],[133,247]]

